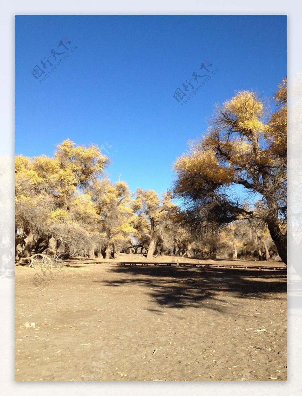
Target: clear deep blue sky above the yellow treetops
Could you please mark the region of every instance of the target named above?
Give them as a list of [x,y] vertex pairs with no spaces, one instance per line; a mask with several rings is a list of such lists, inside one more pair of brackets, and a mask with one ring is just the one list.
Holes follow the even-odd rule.
[[[51,49],[65,54],[54,61]],[[60,63],[53,72],[41,65],[49,56]],[[209,73],[199,69],[208,62]],[[36,79],[35,65],[48,78]],[[178,102],[177,88],[192,93],[186,80],[204,81],[193,72],[211,80]],[[67,138],[94,143],[109,153],[111,181],[121,174],[132,191],[161,194],[215,103],[242,89],[272,96],[286,75],[286,15],[17,15],[15,153],[52,156]]]

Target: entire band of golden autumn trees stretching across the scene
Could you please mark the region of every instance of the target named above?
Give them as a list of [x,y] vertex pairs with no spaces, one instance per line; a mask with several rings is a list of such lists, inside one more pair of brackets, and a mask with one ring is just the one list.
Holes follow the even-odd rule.
[[97,146],[69,139],[52,158],[15,156],[16,262],[38,253],[109,259],[125,252],[278,254],[287,264],[286,78],[272,99],[240,91],[217,105],[206,134],[176,160],[162,199],[112,183],[108,165]]

